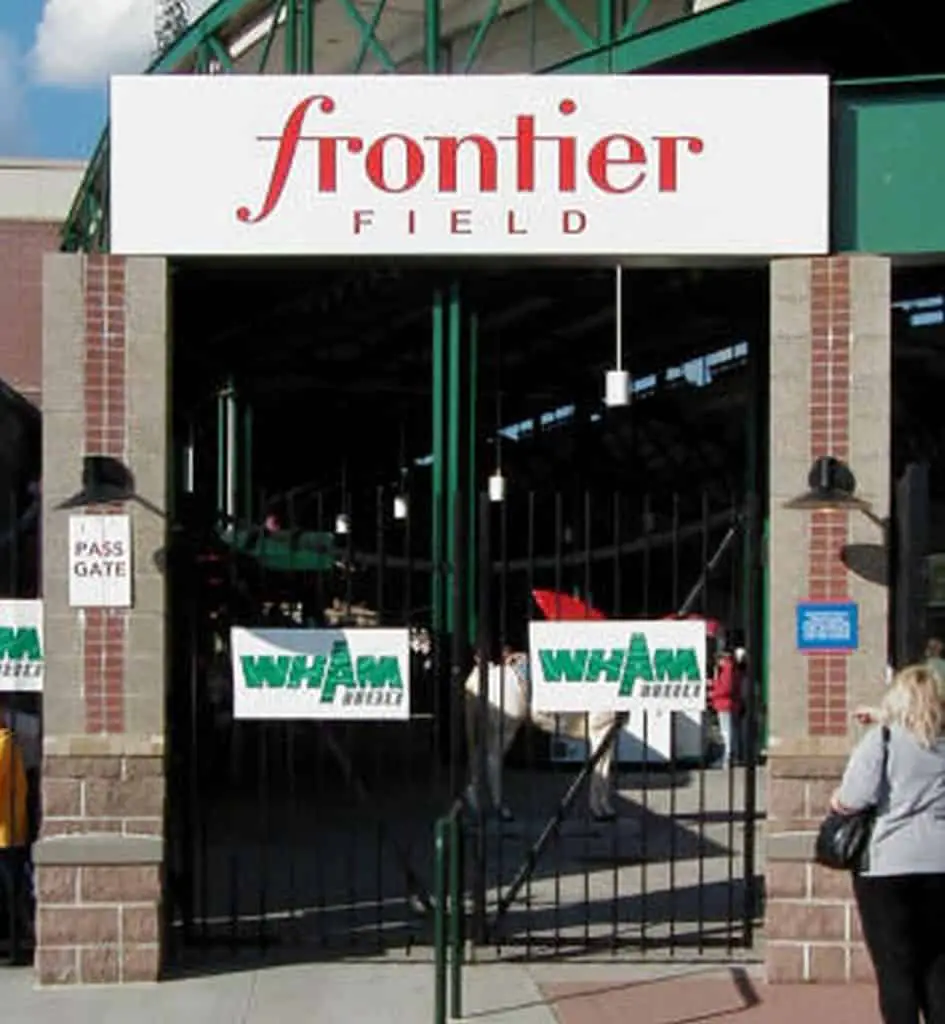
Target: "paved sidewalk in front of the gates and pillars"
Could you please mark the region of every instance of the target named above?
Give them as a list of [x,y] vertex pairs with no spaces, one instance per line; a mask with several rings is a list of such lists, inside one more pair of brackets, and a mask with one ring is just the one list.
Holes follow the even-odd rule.
[[[465,1019],[475,1024],[830,1024],[878,1022],[867,986],[768,988],[757,968],[692,966],[472,969]],[[428,965],[270,968],[126,989],[35,991],[0,969],[4,1024],[427,1024]]]

